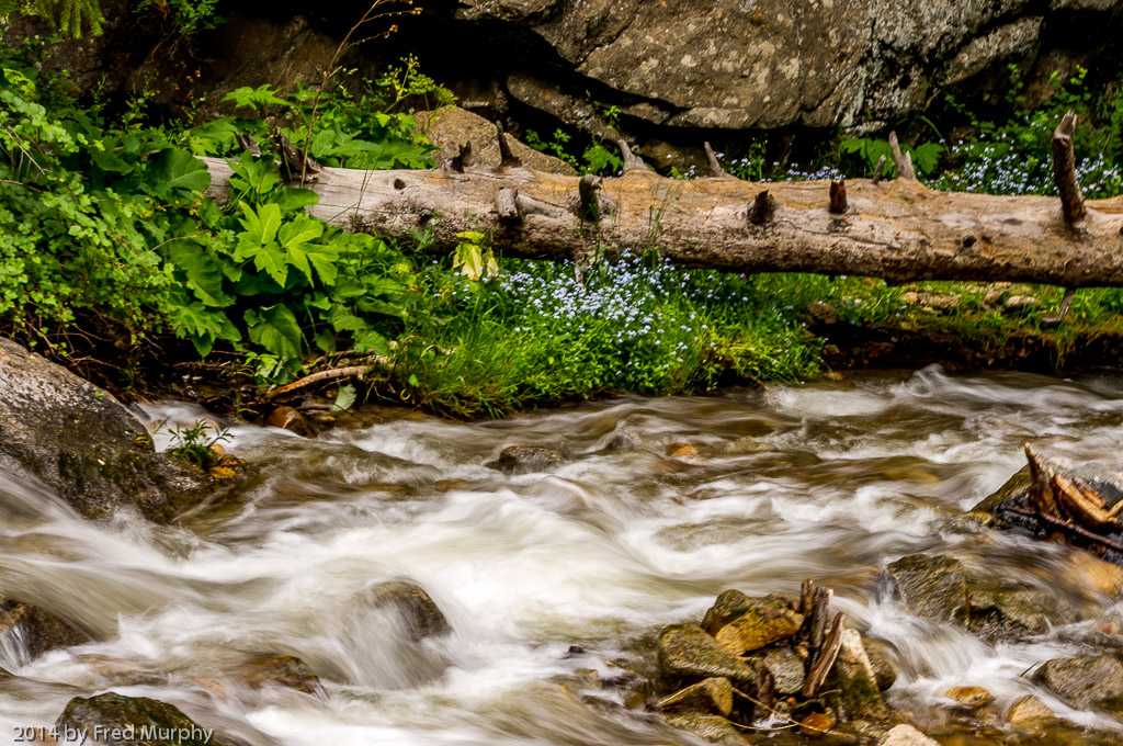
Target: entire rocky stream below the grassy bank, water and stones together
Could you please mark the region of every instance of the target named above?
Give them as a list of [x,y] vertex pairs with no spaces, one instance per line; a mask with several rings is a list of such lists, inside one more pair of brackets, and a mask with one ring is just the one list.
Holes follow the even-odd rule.
[[[157,452],[209,417],[135,415],[165,422]],[[1011,480],[1026,440],[1117,467],[1119,377],[930,369],[230,434],[246,473],[192,472],[209,486],[164,525],[128,500],[91,521],[56,472],[4,464],[0,740],[144,722],[228,744],[1123,737],[1123,572],[1015,518],[1040,495]]]

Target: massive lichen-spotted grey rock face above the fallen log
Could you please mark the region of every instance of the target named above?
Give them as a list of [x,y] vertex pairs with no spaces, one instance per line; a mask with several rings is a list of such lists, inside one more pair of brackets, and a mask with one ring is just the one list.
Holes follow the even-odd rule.
[[1007,64],[1051,58],[1078,21],[1088,24],[1090,46],[1110,43],[1111,31],[1095,25],[1117,22],[1117,0],[1065,4],[464,0],[455,19],[476,34],[514,39],[519,29],[526,40],[513,56],[549,49],[560,74],[518,65],[506,89],[570,125],[590,118],[582,92],[592,84],[650,124],[741,129],[892,121],[988,72],[1001,88]]

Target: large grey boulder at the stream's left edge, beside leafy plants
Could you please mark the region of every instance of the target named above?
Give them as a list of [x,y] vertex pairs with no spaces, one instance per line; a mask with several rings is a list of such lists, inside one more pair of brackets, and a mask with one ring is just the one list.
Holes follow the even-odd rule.
[[86,518],[130,508],[163,522],[210,489],[107,391],[2,338],[0,390],[0,472],[37,477]]

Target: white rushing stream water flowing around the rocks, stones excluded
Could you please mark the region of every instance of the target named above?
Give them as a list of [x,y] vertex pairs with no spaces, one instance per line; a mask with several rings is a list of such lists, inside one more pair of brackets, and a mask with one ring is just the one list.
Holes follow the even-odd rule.
[[[624,430],[640,447],[608,449]],[[0,640],[0,666],[18,674],[0,682],[0,743],[111,689],[252,744],[694,744],[629,700],[658,629],[727,588],[795,591],[804,577],[833,585],[837,607],[895,651],[891,699],[917,717],[934,721],[941,694],[964,684],[996,694],[999,710],[1032,692],[1071,722],[1123,729],[1023,676],[1102,638],[1123,607],[988,645],[904,613],[879,581],[902,555],[942,552],[1085,603],[1070,552],[956,517],[1024,464],[1029,438],[1117,458],[1120,379],[929,369],[499,422],[410,415],[318,440],[232,435],[257,476],[173,527],[85,522],[0,474],[0,593],[103,640],[34,661]],[[673,443],[699,453],[668,457]],[[572,461],[520,476],[484,465],[510,445]],[[391,579],[428,590],[454,633],[419,647],[372,613],[367,589]],[[250,689],[234,672],[258,653],[307,661],[321,697]]]

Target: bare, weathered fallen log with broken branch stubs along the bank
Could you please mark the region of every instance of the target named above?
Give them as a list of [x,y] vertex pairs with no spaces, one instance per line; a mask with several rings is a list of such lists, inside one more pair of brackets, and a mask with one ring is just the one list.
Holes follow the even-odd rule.
[[[438,252],[472,230],[505,255],[545,260],[654,249],[681,265],[733,272],[1123,286],[1123,197],[1084,200],[1078,185],[1074,191],[1074,126],[1066,117],[1054,148],[1063,202],[934,191],[915,180],[900,148],[903,178],[832,185],[740,181],[716,158],[712,175],[667,179],[627,146],[617,179],[541,173],[517,160],[491,170],[466,147],[430,171],[323,167],[310,212],[392,238],[431,231]],[[203,160],[212,191],[226,195],[230,166]]]

